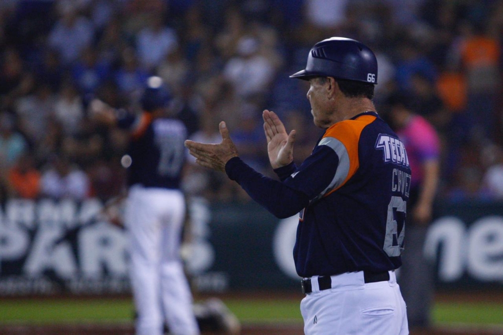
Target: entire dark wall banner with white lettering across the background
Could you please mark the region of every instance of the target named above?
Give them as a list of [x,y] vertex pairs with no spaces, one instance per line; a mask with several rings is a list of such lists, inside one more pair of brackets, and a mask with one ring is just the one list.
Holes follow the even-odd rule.
[[[102,208],[97,199],[7,201],[0,296],[129,293],[127,230],[97,216]],[[192,199],[188,222],[182,255],[196,290],[299,290],[296,216],[280,220],[253,202]],[[443,204],[425,253],[439,288],[503,288],[503,206]]]

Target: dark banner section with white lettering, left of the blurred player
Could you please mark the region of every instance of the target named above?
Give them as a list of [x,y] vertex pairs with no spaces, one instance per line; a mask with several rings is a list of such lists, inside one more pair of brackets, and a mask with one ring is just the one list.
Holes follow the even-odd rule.
[[129,292],[124,230],[103,204],[11,199],[0,213],[0,295]]

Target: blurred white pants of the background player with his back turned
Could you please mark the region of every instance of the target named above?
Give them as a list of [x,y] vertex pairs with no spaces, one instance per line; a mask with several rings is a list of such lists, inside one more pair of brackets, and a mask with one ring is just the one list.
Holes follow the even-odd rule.
[[192,295],[180,260],[185,199],[177,190],[133,186],[125,223],[130,236],[130,276],[137,311],[136,333],[199,334]]

